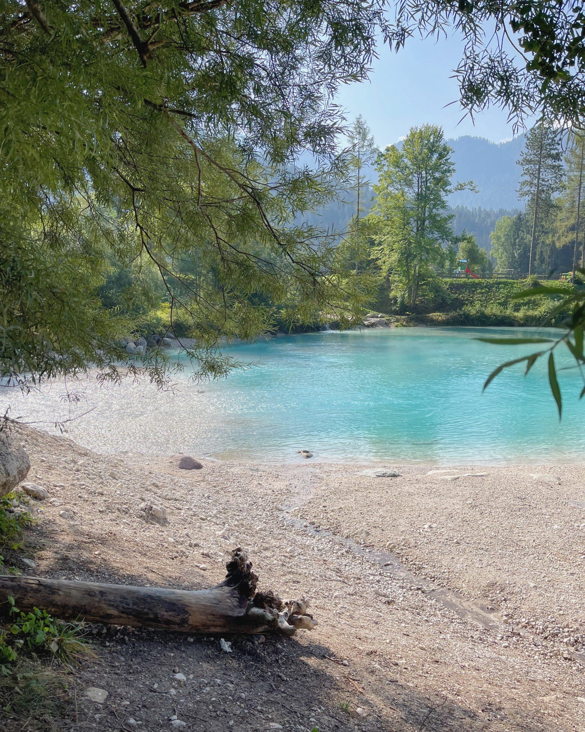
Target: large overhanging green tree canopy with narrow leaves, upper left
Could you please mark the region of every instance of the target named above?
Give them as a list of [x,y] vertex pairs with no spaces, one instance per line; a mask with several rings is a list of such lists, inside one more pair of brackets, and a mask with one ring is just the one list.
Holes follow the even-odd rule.
[[[124,305],[152,298],[153,272],[202,374],[224,373],[221,338],[264,332],[274,306],[355,313],[335,239],[291,219],[335,192],[327,102],[365,75],[376,18],[353,0],[4,2],[0,373],[91,361],[116,378],[116,339],[139,326]],[[129,281],[104,307],[118,265]]]

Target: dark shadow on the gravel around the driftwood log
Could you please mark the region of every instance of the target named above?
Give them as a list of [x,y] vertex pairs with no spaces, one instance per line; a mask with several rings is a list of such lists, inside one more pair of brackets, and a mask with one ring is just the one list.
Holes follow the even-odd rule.
[[[82,539],[83,541],[83,539]],[[34,539],[33,539],[34,542]],[[52,558],[43,576],[119,584],[198,589],[209,586],[195,568],[177,578],[120,572],[94,556],[92,545],[51,536]],[[108,537],[100,550],[108,548]],[[133,548],[128,547],[131,551]],[[311,634],[236,636],[231,653],[219,637],[201,637],[127,627],[88,627],[97,661],[84,662],[70,676],[70,699],[54,727],[64,732],[560,732],[558,722],[525,709],[484,706],[475,713],[437,690],[430,698],[392,680],[395,670],[365,675],[343,666],[335,651]],[[175,678],[176,674],[181,676]],[[89,687],[108,692],[104,703],[86,698]],[[357,710],[361,710],[358,712]],[[552,716],[552,715],[551,715]],[[27,730],[45,725],[28,720]],[[4,730],[4,727],[1,727]],[[7,732],[20,732],[23,719],[7,721]]]

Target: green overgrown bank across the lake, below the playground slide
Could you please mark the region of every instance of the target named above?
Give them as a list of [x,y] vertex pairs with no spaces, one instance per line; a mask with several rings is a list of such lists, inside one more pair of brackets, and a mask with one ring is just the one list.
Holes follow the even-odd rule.
[[[515,299],[531,285],[518,280],[439,280],[432,293],[423,296],[412,312],[400,310],[391,296],[381,296],[374,310],[392,316],[396,324],[461,326],[559,325],[568,313],[554,313],[562,299],[534,296]],[[575,288],[551,281],[551,288]],[[582,285],[580,285],[582,286]],[[536,288],[540,285],[532,285]]]

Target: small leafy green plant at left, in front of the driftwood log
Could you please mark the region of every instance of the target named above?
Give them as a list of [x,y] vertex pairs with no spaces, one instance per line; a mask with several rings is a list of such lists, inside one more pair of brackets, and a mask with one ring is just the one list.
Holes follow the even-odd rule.
[[0,635],[0,673],[4,676],[10,673],[9,665],[23,651],[49,652],[67,666],[75,664],[81,656],[92,655],[90,646],[83,641],[80,623],[56,621],[39,608],[23,613],[13,597],[8,602],[10,620]]

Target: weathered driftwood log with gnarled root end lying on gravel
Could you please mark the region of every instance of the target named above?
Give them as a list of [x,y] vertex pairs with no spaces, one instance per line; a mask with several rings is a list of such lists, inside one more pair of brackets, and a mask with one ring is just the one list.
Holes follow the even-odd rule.
[[192,591],[1,575],[0,610],[13,597],[19,610],[42,608],[63,620],[187,633],[293,635],[297,628],[316,626],[307,600],[283,602],[272,592],[256,591],[258,576],[241,548],[234,549],[226,568],[223,582]]

